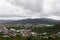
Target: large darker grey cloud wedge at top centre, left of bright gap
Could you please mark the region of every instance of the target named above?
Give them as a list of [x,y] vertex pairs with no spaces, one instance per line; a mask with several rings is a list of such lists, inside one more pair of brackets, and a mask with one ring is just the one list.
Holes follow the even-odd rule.
[[41,12],[43,0],[12,0],[11,3],[30,9],[34,12]]

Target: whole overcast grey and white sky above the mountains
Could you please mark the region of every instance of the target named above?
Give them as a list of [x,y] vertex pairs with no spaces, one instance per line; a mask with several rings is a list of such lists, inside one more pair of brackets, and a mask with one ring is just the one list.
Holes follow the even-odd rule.
[[60,20],[60,0],[0,0],[0,19],[26,18]]

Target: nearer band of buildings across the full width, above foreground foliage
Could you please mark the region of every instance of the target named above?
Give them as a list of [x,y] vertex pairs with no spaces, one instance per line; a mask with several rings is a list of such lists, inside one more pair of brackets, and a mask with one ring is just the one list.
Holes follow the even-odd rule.
[[15,30],[15,29],[10,29],[8,30],[6,27],[0,27],[0,35],[2,34],[3,37],[9,37],[9,36],[16,36],[16,35],[21,35],[22,37],[29,37],[29,36],[40,36],[42,38],[48,38],[48,37],[60,37],[60,32],[56,34],[50,34],[48,36],[47,32],[44,32],[42,34],[38,34],[36,32],[32,32],[31,29],[21,29],[21,30]]

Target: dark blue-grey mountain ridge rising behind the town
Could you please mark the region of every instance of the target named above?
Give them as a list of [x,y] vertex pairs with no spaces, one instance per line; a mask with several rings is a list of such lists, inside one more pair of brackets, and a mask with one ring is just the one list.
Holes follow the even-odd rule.
[[14,23],[14,24],[59,24],[60,20],[53,20],[48,18],[37,18],[37,19],[23,19],[23,20],[17,20],[14,22],[8,22],[8,23]]

